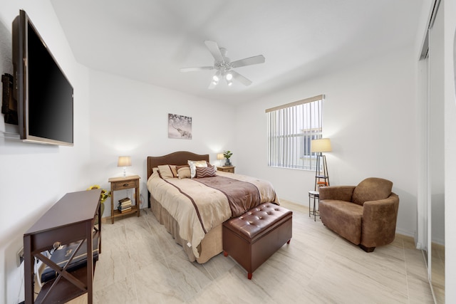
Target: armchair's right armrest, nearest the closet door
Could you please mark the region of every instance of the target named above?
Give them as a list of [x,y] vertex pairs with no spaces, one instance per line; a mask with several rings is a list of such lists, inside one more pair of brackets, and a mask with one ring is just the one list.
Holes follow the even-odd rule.
[[398,219],[399,196],[391,193],[386,199],[365,201],[361,243],[375,247],[394,240]]

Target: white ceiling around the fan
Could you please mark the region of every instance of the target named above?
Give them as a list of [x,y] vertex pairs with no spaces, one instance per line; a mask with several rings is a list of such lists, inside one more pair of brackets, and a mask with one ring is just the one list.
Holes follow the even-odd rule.
[[[51,0],[76,60],[210,100],[241,103],[414,43],[423,0]],[[204,40],[227,48],[245,87],[220,82]]]

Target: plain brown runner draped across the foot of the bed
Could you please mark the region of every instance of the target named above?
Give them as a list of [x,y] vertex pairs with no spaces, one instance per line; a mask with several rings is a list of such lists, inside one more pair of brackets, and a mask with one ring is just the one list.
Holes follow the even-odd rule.
[[241,216],[249,209],[258,206],[261,202],[257,186],[249,182],[220,176],[193,180],[225,194],[229,201],[232,217]]

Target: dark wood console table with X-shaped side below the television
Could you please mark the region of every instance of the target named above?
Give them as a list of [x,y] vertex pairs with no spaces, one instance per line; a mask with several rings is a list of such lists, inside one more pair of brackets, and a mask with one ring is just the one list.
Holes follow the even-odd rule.
[[[42,252],[58,246],[59,243],[63,245],[80,241],[82,246],[83,241],[87,240],[86,252],[89,253],[93,249],[93,239],[98,239],[98,252],[101,253],[100,194],[101,189],[65,194],[24,234],[26,303],[63,303],[84,293],[88,293],[88,303],[92,303],[95,271],[93,258],[87,258],[85,268],[67,272],[66,266],[57,266]],[[97,226],[94,226],[95,216],[98,216]],[[75,253],[76,251],[73,256]],[[33,295],[34,258],[43,261],[58,273],[57,278],[43,285],[36,298]]]

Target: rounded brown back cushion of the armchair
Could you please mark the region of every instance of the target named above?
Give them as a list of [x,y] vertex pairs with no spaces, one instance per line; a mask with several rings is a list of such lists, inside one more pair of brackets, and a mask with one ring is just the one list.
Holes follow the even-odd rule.
[[352,201],[363,206],[365,201],[386,199],[390,196],[392,188],[393,182],[388,181],[388,179],[369,177],[359,183],[353,190]]

